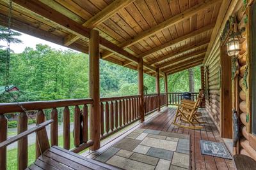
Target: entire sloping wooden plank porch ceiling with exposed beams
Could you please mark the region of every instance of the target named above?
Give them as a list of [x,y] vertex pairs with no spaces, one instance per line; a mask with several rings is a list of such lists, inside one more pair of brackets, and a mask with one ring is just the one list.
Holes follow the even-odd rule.
[[[202,64],[220,0],[13,0],[12,29],[88,53],[100,32],[100,57],[161,75]],[[0,24],[8,20],[0,0]],[[176,72],[175,72],[176,71]]]

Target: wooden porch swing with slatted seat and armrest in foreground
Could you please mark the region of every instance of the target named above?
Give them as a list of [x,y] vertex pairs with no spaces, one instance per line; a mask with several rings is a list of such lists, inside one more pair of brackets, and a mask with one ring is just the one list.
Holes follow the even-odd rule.
[[36,138],[41,155],[26,169],[119,169],[117,167],[98,162],[97,160],[88,159],[58,146],[50,146],[45,127],[52,122],[53,120],[47,120],[42,124],[38,124],[35,127],[18,134],[17,136],[7,139],[0,143],[0,148],[6,147],[15,141],[19,141],[19,139],[36,132]]

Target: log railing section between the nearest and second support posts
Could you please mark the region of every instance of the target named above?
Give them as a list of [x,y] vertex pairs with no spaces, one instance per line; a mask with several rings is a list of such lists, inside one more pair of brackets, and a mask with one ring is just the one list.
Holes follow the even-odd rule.
[[140,96],[100,98],[101,139],[140,118]]

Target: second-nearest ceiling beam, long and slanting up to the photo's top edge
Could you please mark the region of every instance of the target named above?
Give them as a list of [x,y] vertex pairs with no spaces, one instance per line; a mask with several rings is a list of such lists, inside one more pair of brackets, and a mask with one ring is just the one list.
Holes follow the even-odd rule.
[[[155,34],[158,31],[162,31],[163,29],[166,29],[167,27],[175,25],[175,24],[179,23],[181,20],[192,17],[193,15],[198,13],[198,11],[205,10],[206,8],[209,8],[210,6],[212,6],[216,3],[219,3],[219,2],[220,2],[220,0],[207,0],[207,1],[203,1],[200,4],[196,4],[195,6],[189,8],[189,10],[179,13],[178,15],[175,15],[174,17],[169,18],[168,20],[165,20],[164,22],[161,22],[160,24],[155,25],[154,27],[151,27],[150,29],[141,32],[140,34],[138,34],[138,36],[135,36],[135,37],[125,41],[124,43],[121,43],[118,46],[120,46],[122,48],[127,48],[131,45],[134,45],[141,39],[145,39],[148,36],[151,36],[152,34]],[[113,53],[105,52],[105,53],[103,53],[102,57],[103,58],[109,57],[112,54]]]

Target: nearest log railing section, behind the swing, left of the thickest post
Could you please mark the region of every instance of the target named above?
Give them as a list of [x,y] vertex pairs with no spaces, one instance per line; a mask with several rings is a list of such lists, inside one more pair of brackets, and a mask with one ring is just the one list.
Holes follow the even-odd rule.
[[[88,146],[93,145],[93,141],[88,136],[88,105],[92,104],[92,99],[71,99],[60,101],[38,101],[20,103],[27,111],[35,111],[36,124],[45,122],[45,113],[49,113],[53,120],[51,124],[51,146],[58,145],[58,115],[63,115],[63,148],[70,150],[70,115],[74,115],[74,130],[73,136],[74,148],[72,152],[80,152]],[[17,133],[20,134],[28,130],[28,116],[20,108],[17,103],[2,103],[0,104],[0,143],[7,139],[7,119],[5,115],[8,113],[18,112],[18,128]],[[82,133],[82,134],[81,134]],[[81,138],[81,136],[83,136]],[[38,142],[36,145],[36,157],[40,155]],[[28,136],[20,139],[17,146],[18,154],[18,169],[26,169],[28,166]],[[6,146],[0,148],[0,167],[6,169]],[[5,167],[5,168],[4,168]],[[0,168],[0,169],[1,169]]]

